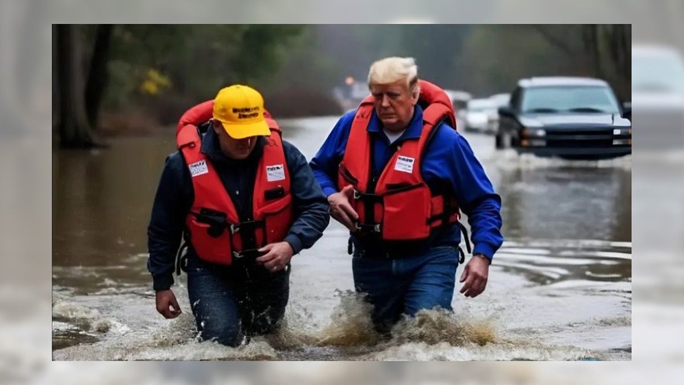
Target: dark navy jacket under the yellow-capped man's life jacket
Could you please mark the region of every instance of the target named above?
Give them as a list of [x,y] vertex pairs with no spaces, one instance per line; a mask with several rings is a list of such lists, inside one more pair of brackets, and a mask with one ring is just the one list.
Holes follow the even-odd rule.
[[[202,140],[202,153],[216,167],[241,217],[251,216],[257,164],[264,152],[264,142],[263,138],[259,140],[248,158],[232,160],[223,155],[213,129],[208,129]],[[329,206],[302,153],[284,140],[283,149],[292,179],[290,188],[295,215],[285,240],[296,254],[312,247],[322,236],[330,219]],[[147,269],[152,274],[154,290],[166,290],[173,284],[175,257],[193,201],[190,171],[182,154],[176,151],[166,158],[147,229]],[[192,247],[188,249],[188,259],[188,263],[199,259]]]

